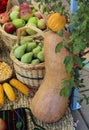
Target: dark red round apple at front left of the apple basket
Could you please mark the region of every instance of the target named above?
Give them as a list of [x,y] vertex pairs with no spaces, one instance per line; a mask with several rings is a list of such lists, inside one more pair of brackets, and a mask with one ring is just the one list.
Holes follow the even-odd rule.
[[4,24],[4,30],[9,34],[13,34],[16,31],[16,27],[14,26],[13,23],[8,22]]

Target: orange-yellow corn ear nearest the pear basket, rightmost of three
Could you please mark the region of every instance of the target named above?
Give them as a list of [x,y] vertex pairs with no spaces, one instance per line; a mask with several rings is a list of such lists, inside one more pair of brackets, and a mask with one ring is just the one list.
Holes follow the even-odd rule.
[[29,88],[24,85],[22,82],[20,82],[19,80],[13,78],[9,81],[9,83],[15,87],[16,89],[18,89],[21,93],[23,93],[24,95],[28,96],[29,94]]

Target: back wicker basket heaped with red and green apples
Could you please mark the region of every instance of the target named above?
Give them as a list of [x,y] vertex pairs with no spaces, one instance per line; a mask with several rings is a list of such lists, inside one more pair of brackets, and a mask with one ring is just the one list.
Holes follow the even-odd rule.
[[[33,6],[31,2],[22,2],[19,4],[18,2],[14,2],[15,4],[9,9],[11,2],[11,0],[8,0],[8,10],[0,14],[1,37],[10,50],[16,44],[17,32],[19,28],[25,26],[29,27],[32,25],[44,31],[47,27],[44,15],[37,7],[39,4],[35,2],[35,6]],[[37,32],[32,29],[27,29],[23,31],[21,35],[31,36],[35,35],[36,33]]]

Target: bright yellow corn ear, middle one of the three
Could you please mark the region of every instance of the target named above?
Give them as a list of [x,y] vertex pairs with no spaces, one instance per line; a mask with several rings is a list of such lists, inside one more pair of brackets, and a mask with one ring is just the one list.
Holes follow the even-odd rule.
[[10,84],[4,83],[4,84],[3,84],[3,89],[4,89],[5,94],[7,95],[8,99],[9,99],[10,101],[14,101],[16,97],[15,97],[14,90],[13,90],[13,88],[10,86]]

